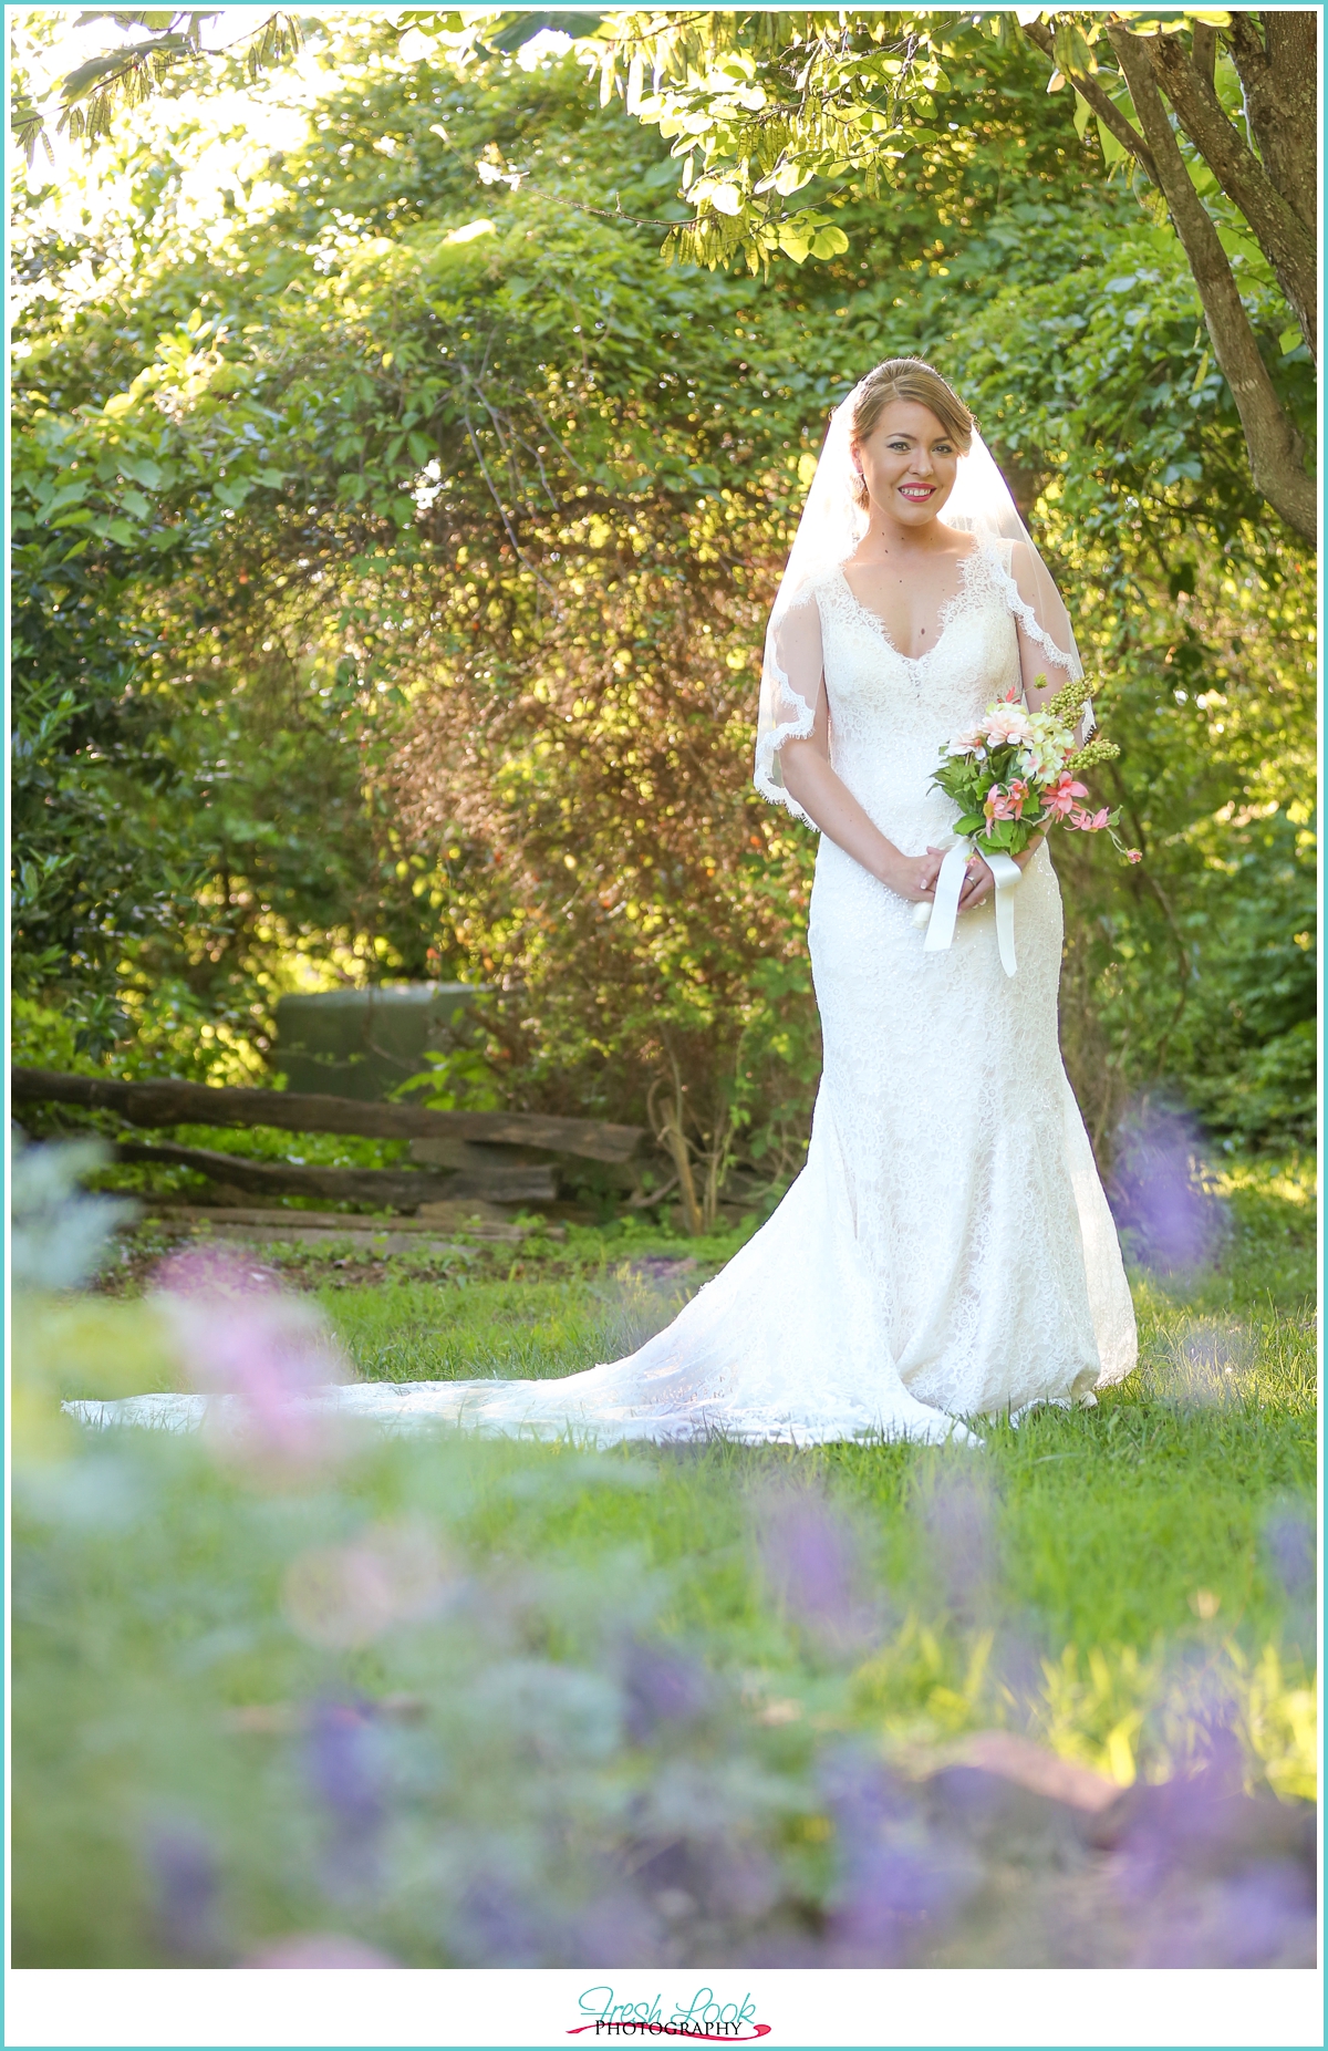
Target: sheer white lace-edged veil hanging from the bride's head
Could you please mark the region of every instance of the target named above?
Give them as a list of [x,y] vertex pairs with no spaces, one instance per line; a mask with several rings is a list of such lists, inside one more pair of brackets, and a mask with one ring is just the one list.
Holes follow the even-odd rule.
[[[867,513],[855,502],[857,478],[850,453],[853,412],[861,390],[855,386],[830,418],[826,447],[771,611],[760,673],[756,790],[807,825],[812,820],[783,786],[779,751],[785,740],[805,740],[812,732],[824,689],[816,587],[853,556],[867,533]],[[1049,665],[1070,677],[1082,677],[1074,628],[1055,578],[1037,554],[1010,486],[978,429],[969,453],[959,457],[955,488],[941,519],[947,527],[978,535],[1000,574],[1006,605],[1025,634],[1045,650]],[[1086,730],[1090,726],[1088,708]]]

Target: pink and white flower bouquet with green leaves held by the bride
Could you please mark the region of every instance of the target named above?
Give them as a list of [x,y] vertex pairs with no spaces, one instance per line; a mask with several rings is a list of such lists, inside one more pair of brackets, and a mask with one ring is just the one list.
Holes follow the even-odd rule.
[[[1047,679],[1039,677],[1043,685]],[[1088,699],[1088,685],[1068,683],[1041,712],[1027,712],[1019,687],[996,699],[969,732],[941,749],[932,786],[961,808],[955,833],[971,839],[980,855],[1021,855],[1035,835],[1049,827],[1078,833],[1109,833],[1127,861],[1142,861],[1137,847],[1125,847],[1115,833],[1121,816],[1088,810],[1082,771],[1111,761],[1121,751],[1096,736],[1076,747],[1074,724]]]

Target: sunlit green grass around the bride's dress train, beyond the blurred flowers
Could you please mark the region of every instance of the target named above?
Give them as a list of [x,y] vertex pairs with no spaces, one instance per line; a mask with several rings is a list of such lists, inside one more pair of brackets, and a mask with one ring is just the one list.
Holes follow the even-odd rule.
[[[1142,1704],[1176,1661],[1223,1672],[1244,1663],[1248,1676],[1273,1645],[1291,1692],[1310,1661],[1264,1528],[1285,1505],[1314,1499],[1314,1179],[1303,1161],[1244,1163],[1221,1171],[1215,1188],[1230,1212],[1217,1265],[1131,1278],[1135,1374],[1096,1409],[1035,1411],[1019,1430],[988,1427],[984,1450],[963,1458],[963,1473],[990,1497],[1000,1628],[1033,1643],[1057,1674],[1051,1682],[1043,1672],[1043,1729],[1098,1766],[1115,1760],[1123,1770],[1133,1760]],[[324,1286],[320,1296],[367,1378],[555,1376],[617,1358],[660,1329],[680,1290],[711,1274],[734,1243],[572,1233],[566,1247],[543,1243],[516,1259],[490,1253],[443,1282]],[[633,1268],[652,1257],[695,1257],[697,1270],[652,1282]],[[965,1702],[957,1672],[971,1633],[926,1569],[924,1501],[953,1479],[953,1454],[715,1444],[615,1458],[648,1485],[576,1483],[566,1454],[523,1448],[523,1473],[545,1473],[549,1485],[531,1479],[529,1495],[502,1493],[478,1518],[473,1540],[525,1559],[559,1551],[588,1561],[607,1546],[635,1546],[668,1573],[672,1631],[721,1639],[736,1667],[775,1672],[787,1667],[789,1643],[777,1651],[771,1641],[769,1602],[752,1573],[750,1501],[773,1481],[812,1483],[853,1518],[869,1577],[894,1592],[896,1626],[908,1635],[912,1614],[914,1639],[922,1616],[932,1631],[935,1651],[920,1655],[914,1645],[867,1696],[900,1729],[912,1719],[932,1735],[947,1717],[1000,1715],[990,1690]],[[785,1672],[771,1686],[801,1682]],[[957,1702],[945,1702],[947,1692]]]

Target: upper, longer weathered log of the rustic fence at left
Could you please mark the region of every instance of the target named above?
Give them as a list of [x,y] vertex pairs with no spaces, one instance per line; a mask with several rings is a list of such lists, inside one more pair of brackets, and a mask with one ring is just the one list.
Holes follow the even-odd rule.
[[641,1126],[537,1112],[426,1112],[412,1103],[359,1103],[293,1089],[211,1089],[207,1083],[119,1083],[100,1075],[14,1069],[14,1103],[80,1103],[131,1126],[279,1126],[283,1132],[359,1132],[375,1140],[457,1138],[543,1147],[586,1161],[627,1161]]

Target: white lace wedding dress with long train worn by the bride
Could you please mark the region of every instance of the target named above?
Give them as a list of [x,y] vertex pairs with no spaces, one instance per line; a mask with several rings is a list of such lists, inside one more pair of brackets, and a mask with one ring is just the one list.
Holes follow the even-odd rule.
[[[1019,685],[1016,619],[1060,654],[1008,562],[1008,544],[973,548],[918,660],[842,570],[814,587],[834,769],[906,853],[953,841],[955,806],[930,775],[941,742]],[[1084,1401],[1125,1376],[1133,1311],[1060,1058],[1062,904],[1045,845],[1014,917],[1014,976],[990,900],[959,917],[949,952],[924,954],[914,907],[822,839],[810,946],[824,1077],[807,1165],[756,1237],[625,1360],[564,1380],[357,1384],[328,1401],[398,1430],[451,1419],[598,1444],[816,1444],[965,1438],[957,1419]],[[201,1399],[135,1405],[137,1421],[184,1425]],[[131,1421],[125,1405],[80,1405],[88,1421],[111,1409]]]

